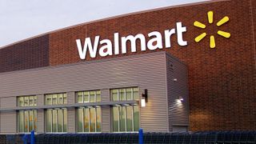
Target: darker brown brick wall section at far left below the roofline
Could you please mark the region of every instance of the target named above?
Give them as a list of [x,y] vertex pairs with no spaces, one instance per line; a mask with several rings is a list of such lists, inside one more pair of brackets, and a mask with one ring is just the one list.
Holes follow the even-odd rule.
[[0,49],[0,73],[49,66],[49,37],[43,35]]

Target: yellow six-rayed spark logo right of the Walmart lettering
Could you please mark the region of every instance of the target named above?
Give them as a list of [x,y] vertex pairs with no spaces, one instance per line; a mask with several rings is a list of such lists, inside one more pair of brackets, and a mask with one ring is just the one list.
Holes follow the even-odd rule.
[[[208,15],[208,22],[209,23],[213,23],[214,22],[214,12],[213,11],[209,11],[207,13]],[[229,18],[227,16],[225,16],[224,18],[222,18],[220,21],[217,22],[217,26],[222,26],[224,23],[228,22]],[[199,27],[201,29],[205,29],[206,25],[202,24],[202,22],[198,22],[195,21],[194,22],[194,26]],[[224,38],[230,38],[230,33],[226,32],[226,31],[222,31],[222,30],[218,30],[217,32],[218,35],[221,35]],[[202,33],[200,35],[198,35],[197,38],[194,38],[195,42],[200,42],[202,40],[202,38],[206,37],[206,32]],[[215,48],[215,38],[214,35],[210,35],[210,48]]]

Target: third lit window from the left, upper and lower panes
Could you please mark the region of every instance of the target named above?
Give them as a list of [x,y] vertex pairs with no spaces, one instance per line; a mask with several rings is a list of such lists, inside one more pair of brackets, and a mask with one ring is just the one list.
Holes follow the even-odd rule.
[[[80,91],[76,93],[77,102],[101,102],[101,91]],[[101,132],[102,131],[102,109],[100,106],[80,107],[77,110],[78,132]]]

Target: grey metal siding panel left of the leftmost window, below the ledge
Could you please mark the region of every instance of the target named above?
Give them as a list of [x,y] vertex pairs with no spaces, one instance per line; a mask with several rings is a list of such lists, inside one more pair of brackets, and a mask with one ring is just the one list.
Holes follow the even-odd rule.
[[1,112],[1,133],[15,134],[17,131],[16,111]]

